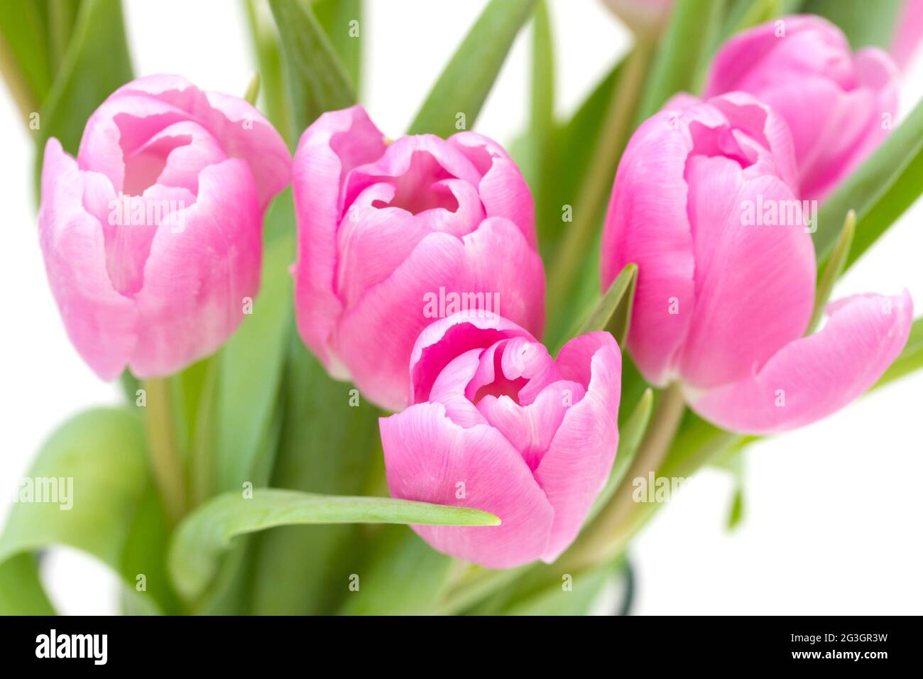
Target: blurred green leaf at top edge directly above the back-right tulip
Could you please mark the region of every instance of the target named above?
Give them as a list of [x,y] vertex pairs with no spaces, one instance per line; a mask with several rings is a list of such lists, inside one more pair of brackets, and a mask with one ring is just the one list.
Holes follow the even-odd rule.
[[901,14],[905,0],[806,0],[802,11],[818,14],[839,26],[849,39],[850,46],[875,45],[882,49],[891,46],[894,25]]

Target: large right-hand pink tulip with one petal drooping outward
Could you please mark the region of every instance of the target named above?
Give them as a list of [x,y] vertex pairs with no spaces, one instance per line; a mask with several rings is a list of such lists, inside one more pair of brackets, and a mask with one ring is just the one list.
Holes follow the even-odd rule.
[[905,345],[910,297],[828,306],[804,337],[816,264],[796,200],[792,143],[771,109],[736,92],[685,96],[641,125],[605,217],[602,283],[639,267],[628,346],[651,382],[730,430],[799,427],[862,394]]

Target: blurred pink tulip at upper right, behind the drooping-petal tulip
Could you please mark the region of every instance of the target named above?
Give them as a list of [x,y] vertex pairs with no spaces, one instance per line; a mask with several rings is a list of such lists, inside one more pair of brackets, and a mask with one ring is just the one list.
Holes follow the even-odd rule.
[[897,115],[897,69],[813,16],[747,30],[715,56],[706,97],[749,92],[785,118],[795,141],[798,195],[822,200],[873,152]]

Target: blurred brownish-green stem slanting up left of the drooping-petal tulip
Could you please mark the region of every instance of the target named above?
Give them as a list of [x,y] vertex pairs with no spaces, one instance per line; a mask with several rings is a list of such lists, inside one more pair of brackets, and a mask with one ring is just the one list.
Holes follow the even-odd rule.
[[614,168],[629,136],[652,52],[652,44],[638,42],[629,55],[624,75],[612,91],[605,115],[608,123],[588,164],[586,181],[574,210],[574,221],[549,267],[546,298],[548,318],[556,317],[573,289],[574,279],[585,266],[586,253],[596,231],[595,225],[612,188]]

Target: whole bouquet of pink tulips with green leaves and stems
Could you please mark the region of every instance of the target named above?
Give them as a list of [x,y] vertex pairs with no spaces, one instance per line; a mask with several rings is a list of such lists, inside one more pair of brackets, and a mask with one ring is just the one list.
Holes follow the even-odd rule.
[[134,73],[119,0],[0,4],[48,282],[125,390],[19,484],[0,612],[53,612],[63,544],[127,613],[581,614],[639,491],[923,367],[908,294],[829,299],[923,192],[920,3],[607,5],[633,46],[569,120],[545,1],[491,0],[402,135],[360,0],[246,0],[236,93]]

